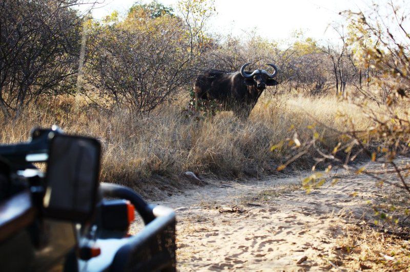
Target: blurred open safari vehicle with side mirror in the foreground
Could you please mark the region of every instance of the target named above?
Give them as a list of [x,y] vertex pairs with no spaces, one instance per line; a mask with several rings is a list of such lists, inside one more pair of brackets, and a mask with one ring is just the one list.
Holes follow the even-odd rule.
[[99,183],[100,149],[57,127],[0,146],[0,271],[175,271],[175,213]]

